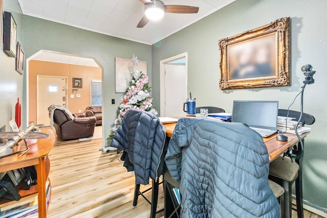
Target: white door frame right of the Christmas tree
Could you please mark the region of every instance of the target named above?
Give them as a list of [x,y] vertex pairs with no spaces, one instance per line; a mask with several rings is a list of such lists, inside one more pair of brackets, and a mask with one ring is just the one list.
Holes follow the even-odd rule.
[[[185,90],[185,94],[187,96],[187,92],[188,92],[188,53],[182,53],[179,55],[176,55],[174,57],[171,58],[167,58],[165,60],[161,60],[160,61],[160,115],[159,116],[165,116],[166,114],[166,108],[165,108],[165,104],[166,104],[166,83],[165,83],[165,64],[181,59],[181,58],[185,58],[185,71],[186,71],[186,90]],[[186,101],[186,99],[185,99]]]

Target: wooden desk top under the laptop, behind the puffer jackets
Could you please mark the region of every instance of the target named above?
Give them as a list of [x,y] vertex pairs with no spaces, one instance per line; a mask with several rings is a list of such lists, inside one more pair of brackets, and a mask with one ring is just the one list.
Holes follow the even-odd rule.
[[[166,127],[166,136],[172,137],[176,123],[164,124],[164,126]],[[301,134],[301,139],[305,138],[309,133],[310,132]],[[299,142],[297,136],[294,134],[286,134],[288,136],[288,141],[278,141],[276,139],[276,135],[277,134],[274,134],[270,137],[263,138],[268,149],[270,162],[277,158],[279,155],[282,155],[287,149],[292,146],[295,146]]]

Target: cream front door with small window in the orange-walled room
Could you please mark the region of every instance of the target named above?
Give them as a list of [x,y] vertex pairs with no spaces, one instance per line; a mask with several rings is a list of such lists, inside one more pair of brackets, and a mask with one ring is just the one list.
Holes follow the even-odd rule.
[[67,105],[67,78],[37,76],[37,111],[36,124],[50,126],[48,107]]

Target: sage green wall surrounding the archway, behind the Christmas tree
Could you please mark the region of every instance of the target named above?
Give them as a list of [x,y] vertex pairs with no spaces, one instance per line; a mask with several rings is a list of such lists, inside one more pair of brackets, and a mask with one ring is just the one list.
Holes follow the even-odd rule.
[[[104,137],[111,131],[116,111],[121,103],[122,93],[115,93],[115,57],[147,61],[147,71],[151,81],[151,45],[136,43],[99,33],[94,33],[60,23],[23,15],[24,49],[26,56],[40,50],[50,50],[68,54],[91,56],[103,67],[103,128]],[[25,78],[26,79],[26,78]],[[26,90],[25,90],[26,91]],[[111,104],[115,99],[116,104]],[[107,140],[105,141],[107,143]],[[106,144],[105,147],[107,147]]]

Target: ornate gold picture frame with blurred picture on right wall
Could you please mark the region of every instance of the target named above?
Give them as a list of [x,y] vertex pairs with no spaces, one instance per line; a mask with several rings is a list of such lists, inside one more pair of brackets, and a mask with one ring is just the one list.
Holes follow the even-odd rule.
[[290,86],[289,17],[220,39],[220,89]]

